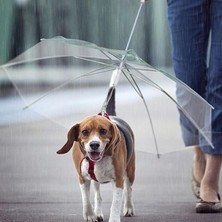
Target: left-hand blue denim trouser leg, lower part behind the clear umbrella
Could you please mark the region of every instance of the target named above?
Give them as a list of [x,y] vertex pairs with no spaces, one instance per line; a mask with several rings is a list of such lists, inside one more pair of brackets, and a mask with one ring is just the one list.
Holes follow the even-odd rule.
[[[173,67],[177,78],[204,97],[207,74],[209,37],[209,4],[207,0],[168,0]],[[190,107],[192,98],[177,90],[177,100]],[[198,112],[198,110],[197,110]],[[186,146],[199,144],[198,130],[180,113],[183,140]]]

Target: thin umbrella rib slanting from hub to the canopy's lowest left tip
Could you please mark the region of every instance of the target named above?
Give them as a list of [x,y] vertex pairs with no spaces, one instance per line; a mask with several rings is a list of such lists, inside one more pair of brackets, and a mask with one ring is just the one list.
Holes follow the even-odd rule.
[[[75,78],[71,78],[71,79],[68,79],[67,81],[65,81],[64,83],[60,84],[59,86],[53,88],[52,90],[48,91],[47,93],[45,93],[44,95],[42,95],[41,97],[39,97],[38,99],[34,100],[32,103],[28,104],[27,106],[25,106],[23,108],[23,110],[25,109],[28,109],[29,107],[31,107],[32,105],[34,105],[36,102],[42,100],[43,98],[45,98],[46,96],[52,94],[53,92],[61,89],[62,87],[66,86],[67,84],[70,83],[70,81],[73,81],[73,80],[77,80],[77,79],[80,79],[80,78],[83,78],[83,77],[86,77],[86,76],[91,76],[91,75],[96,75],[96,74],[99,74],[101,72],[104,72],[104,69],[107,68],[107,67],[102,67],[100,69],[97,69],[97,70],[94,70],[94,71],[90,71],[88,73],[85,73],[83,75],[79,75]],[[111,69],[112,70],[112,69]],[[111,71],[111,70],[106,70],[106,71]]]

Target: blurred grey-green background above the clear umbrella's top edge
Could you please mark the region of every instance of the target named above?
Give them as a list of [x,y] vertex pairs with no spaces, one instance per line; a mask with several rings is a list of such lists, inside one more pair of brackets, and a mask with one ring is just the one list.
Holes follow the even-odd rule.
[[[0,0],[0,64],[41,38],[64,36],[124,49],[139,0]],[[171,66],[165,0],[149,0],[130,48],[155,67]]]

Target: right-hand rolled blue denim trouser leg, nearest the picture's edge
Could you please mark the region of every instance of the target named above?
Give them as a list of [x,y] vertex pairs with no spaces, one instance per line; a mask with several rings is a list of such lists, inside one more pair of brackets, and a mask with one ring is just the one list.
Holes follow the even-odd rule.
[[202,151],[222,155],[222,0],[211,1],[210,46],[205,99],[214,107],[211,129],[215,148],[202,146]]

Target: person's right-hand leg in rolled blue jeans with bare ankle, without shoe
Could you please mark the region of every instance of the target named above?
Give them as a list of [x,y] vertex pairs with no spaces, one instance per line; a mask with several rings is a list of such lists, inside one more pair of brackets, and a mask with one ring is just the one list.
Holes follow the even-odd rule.
[[219,175],[222,164],[222,0],[211,3],[211,52],[207,78],[206,99],[214,106],[212,112],[212,142],[201,147],[206,157],[206,168],[200,186],[204,201],[218,202]]

